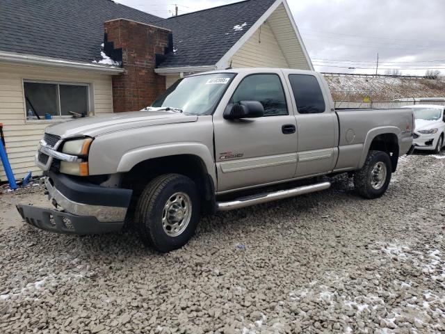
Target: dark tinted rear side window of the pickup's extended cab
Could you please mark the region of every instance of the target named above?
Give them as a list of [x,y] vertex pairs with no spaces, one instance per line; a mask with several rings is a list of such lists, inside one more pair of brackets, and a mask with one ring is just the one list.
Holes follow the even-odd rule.
[[316,77],[308,74],[289,74],[298,113],[324,113],[325,99]]

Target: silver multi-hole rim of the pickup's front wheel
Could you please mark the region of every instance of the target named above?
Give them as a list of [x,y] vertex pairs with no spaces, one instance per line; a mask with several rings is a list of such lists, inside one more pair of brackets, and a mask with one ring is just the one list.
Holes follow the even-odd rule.
[[174,193],[164,205],[162,227],[169,237],[184,232],[192,216],[192,201],[186,193]]

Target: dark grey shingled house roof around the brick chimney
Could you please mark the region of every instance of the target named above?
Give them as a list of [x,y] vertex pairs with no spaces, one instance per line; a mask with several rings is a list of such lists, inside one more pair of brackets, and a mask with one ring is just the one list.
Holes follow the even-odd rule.
[[111,0],[2,0],[0,50],[92,63],[102,58],[104,22],[124,18],[172,30],[175,52],[160,67],[215,65],[276,1],[245,0],[164,19]]

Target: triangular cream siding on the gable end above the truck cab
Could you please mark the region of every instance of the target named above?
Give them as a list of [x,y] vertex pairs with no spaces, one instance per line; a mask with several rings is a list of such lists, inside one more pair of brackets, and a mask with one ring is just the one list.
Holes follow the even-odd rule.
[[289,67],[267,21],[236,51],[232,67]]

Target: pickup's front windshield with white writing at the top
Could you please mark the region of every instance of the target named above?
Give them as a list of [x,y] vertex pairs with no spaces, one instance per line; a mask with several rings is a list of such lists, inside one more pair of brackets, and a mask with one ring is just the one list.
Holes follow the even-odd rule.
[[186,115],[211,115],[234,77],[234,73],[213,73],[178,80],[152,107],[177,109]]

